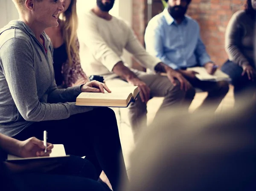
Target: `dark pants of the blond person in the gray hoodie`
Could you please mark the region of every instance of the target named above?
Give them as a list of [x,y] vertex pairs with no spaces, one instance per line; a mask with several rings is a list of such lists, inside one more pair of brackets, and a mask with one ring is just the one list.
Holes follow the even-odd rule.
[[120,178],[128,180],[115,113],[110,108],[96,108],[76,114],[64,120],[36,122],[14,138],[43,139],[48,132],[48,142],[64,144],[67,154],[86,156],[96,168],[97,177],[102,170],[107,175],[113,190],[117,190]]

